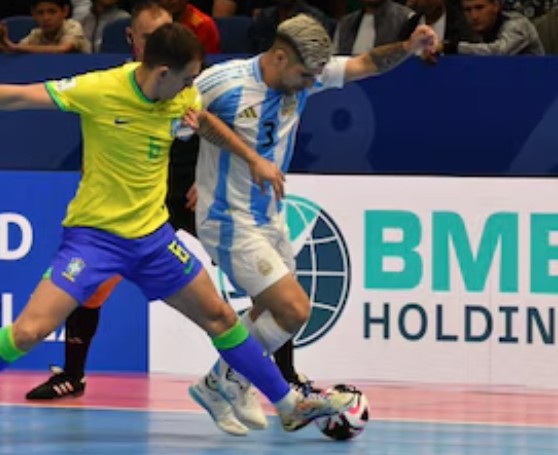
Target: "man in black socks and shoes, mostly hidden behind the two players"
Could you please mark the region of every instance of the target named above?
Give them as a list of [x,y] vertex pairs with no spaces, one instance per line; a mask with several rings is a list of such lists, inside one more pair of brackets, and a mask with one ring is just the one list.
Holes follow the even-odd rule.
[[[163,24],[170,24],[172,16],[156,0],[141,0],[132,8],[127,39],[136,61],[143,58],[145,39]],[[175,230],[184,229],[196,236],[195,205],[195,167],[198,157],[199,137],[188,141],[174,140],[170,149],[168,193],[166,204],[169,209],[169,222]],[[28,400],[55,400],[78,397],[85,393],[85,365],[91,342],[97,332],[101,307],[122,280],[119,275],[104,283],[76,308],[66,319],[66,339],[64,343],[63,368],[52,366],[52,375],[41,384],[33,387],[27,394]],[[294,369],[293,344],[289,340],[274,354],[275,363],[283,377],[301,390],[317,391],[312,382]],[[230,407],[222,413],[229,413]],[[231,420],[230,417],[228,420]],[[236,427],[240,427],[238,422]]]

